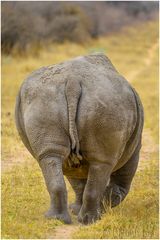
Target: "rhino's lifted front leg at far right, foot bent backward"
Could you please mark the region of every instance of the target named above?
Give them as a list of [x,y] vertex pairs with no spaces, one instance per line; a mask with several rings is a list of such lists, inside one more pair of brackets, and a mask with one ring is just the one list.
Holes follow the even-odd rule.
[[116,207],[127,196],[138,166],[139,151],[140,147],[138,146],[129,161],[112,173],[110,183],[104,193],[103,203],[105,206]]

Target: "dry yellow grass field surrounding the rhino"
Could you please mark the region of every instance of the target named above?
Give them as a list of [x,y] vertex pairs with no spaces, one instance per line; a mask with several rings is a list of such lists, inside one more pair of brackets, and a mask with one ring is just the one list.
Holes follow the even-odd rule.
[[[50,232],[54,236],[56,226],[65,227],[59,221],[43,218],[43,211],[49,204],[43,177],[15,129],[15,98],[27,74],[41,66],[77,55],[103,51],[139,92],[145,109],[145,129],[152,135],[153,144],[157,145],[157,42],[158,23],[150,22],[83,46],[66,42],[41,49],[36,56],[2,56],[3,238],[45,238]],[[150,151],[149,143],[146,141],[149,150],[148,167],[136,174],[132,190],[124,203],[109,210],[97,223],[79,227],[72,237],[158,238],[158,153],[156,148]],[[23,164],[14,167],[16,162]],[[70,186],[67,187],[71,201],[74,195]]]

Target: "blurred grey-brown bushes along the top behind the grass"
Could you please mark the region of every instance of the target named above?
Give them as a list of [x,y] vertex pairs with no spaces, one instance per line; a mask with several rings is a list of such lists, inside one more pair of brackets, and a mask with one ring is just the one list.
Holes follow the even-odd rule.
[[158,16],[158,1],[2,2],[2,52],[52,42],[85,43]]

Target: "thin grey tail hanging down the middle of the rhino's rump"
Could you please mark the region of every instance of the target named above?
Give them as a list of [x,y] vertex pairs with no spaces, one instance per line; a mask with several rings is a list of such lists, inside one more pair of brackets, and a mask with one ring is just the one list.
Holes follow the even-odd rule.
[[75,163],[77,163],[77,160],[82,159],[79,154],[80,145],[76,126],[76,115],[81,91],[81,85],[78,81],[72,78],[68,79],[65,87],[65,95],[68,105],[69,135],[71,139],[72,158]]

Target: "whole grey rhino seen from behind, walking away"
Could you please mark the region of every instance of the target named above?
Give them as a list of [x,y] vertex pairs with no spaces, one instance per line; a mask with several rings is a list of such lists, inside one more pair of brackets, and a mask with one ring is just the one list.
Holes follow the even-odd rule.
[[45,178],[48,218],[71,222],[63,175],[76,193],[70,208],[84,224],[126,197],[139,160],[143,107],[105,55],[33,72],[22,84],[15,115]]

